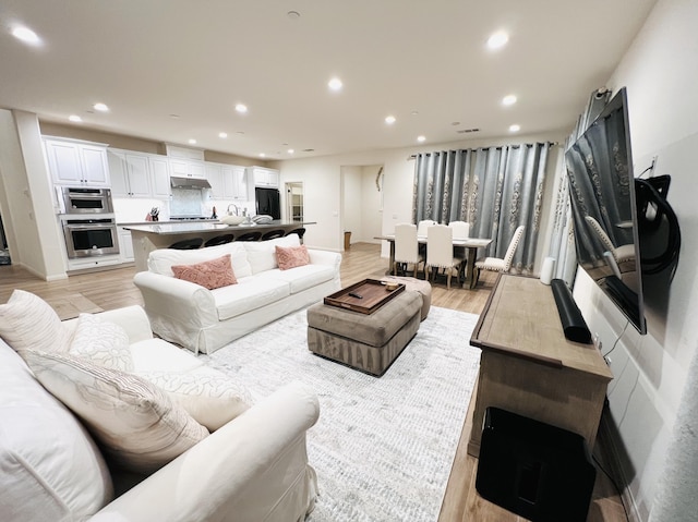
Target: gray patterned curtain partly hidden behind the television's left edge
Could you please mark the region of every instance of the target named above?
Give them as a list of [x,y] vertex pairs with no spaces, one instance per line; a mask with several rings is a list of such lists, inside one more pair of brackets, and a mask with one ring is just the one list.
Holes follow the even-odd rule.
[[[601,113],[611,99],[611,92],[599,93],[594,90],[589,97],[589,102],[582,114],[577,120],[575,131],[565,143],[565,150],[574,145],[579,136]],[[571,287],[577,272],[577,253],[575,252],[575,239],[571,229],[569,214],[569,184],[567,182],[567,166],[563,159],[563,168],[555,180],[557,187],[555,197],[555,214],[553,219],[553,234],[547,255],[556,259],[555,278],[563,279]]]

